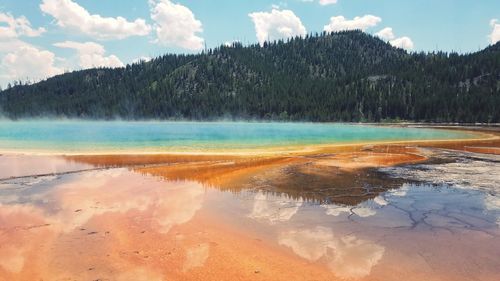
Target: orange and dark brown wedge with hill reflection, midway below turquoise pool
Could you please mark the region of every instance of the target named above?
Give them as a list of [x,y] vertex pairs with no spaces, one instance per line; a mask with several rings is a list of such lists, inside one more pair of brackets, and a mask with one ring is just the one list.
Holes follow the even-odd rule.
[[[210,159],[207,156],[153,155],[142,158],[76,156],[67,159],[98,167],[123,166],[129,161],[136,165],[132,167],[134,171],[144,175],[159,176],[169,181],[196,181],[206,187],[234,193],[261,190],[285,194],[300,201],[333,202],[352,206],[373,199],[389,189],[398,188],[408,181],[387,177],[373,168],[379,165],[377,161],[385,159],[384,155],[366,152],[355,153],[354,156],[351,153],[340,153],[314,157],[212,156],[213,159]],[[414,154],[409,155],[415,157]],[[343,159],[338,165],[344,165],[344,162],[352,160],[347,156],[354,157],[360,165],[364,163],[363,161],[369,163],[364,163],[359,169],[346,170],[335,166],[337,164],[332,159]],[[395,159],[405,156],[408,155],[391,154]],[[344,159],[346,157],[347,160]],[[332,164],[332,161],[335,163]]]

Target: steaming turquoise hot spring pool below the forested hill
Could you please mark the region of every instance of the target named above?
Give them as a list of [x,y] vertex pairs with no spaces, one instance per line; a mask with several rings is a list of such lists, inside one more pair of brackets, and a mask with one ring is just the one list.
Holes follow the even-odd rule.
[[471,137],[457,131],[317,123],[0,121],[0,152],[207,151]]

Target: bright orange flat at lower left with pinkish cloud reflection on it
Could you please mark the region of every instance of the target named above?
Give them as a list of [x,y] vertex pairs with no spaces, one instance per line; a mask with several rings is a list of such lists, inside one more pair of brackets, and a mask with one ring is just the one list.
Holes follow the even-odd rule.
[[196,183],[99,172],[47,195],[50,211],[0,205],[1,280],[332,280],[202,212]]

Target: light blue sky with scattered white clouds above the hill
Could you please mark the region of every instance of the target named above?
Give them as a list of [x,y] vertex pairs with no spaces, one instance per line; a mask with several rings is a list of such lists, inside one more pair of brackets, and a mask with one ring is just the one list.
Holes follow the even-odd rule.
[[499,0],[0,0],[0,87],[322,31],[361,29],[411,52],[500,41]]

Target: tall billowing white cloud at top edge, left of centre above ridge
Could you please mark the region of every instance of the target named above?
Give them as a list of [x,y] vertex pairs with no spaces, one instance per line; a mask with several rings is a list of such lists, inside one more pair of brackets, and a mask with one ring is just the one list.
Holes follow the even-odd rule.
[[205,41],[197,35],[203,32],[202,24],[189,8],[170,0],[150,0],[150,5],[159,43],[193,51],[203,49]]

